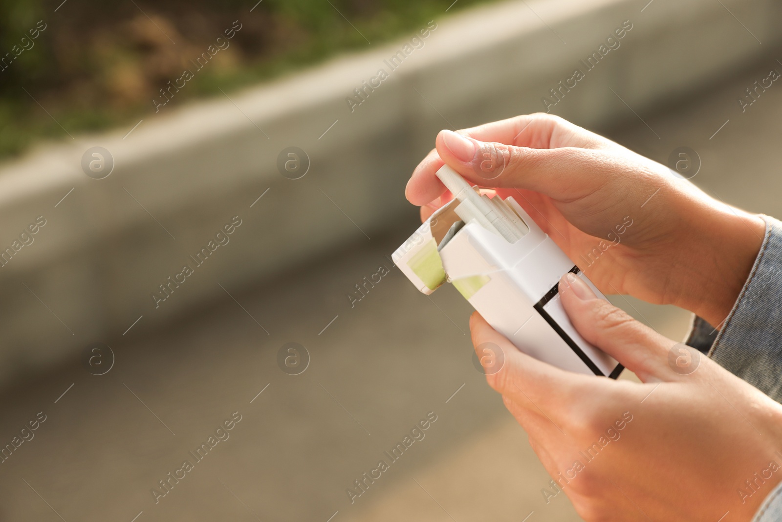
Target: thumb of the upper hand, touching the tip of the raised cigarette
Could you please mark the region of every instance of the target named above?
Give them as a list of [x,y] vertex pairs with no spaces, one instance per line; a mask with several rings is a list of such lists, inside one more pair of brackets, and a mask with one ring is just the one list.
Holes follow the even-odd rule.
[[554,200],[579,199],[621,181],[605,152],[596,149],[533,149],[448,130],[439,132],[436,146],[445,163],[477,185],[529,189]]

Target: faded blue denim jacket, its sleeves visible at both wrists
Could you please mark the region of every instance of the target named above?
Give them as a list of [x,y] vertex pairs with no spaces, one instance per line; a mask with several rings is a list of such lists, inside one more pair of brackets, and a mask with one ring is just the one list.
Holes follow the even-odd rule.
[[[687,344],[697,348],[769,395],[782,401],[782,222],[763,216],[766,236],[733,309],[717,330],[696,317]],[[778,484],[752,522],[782,520]]]

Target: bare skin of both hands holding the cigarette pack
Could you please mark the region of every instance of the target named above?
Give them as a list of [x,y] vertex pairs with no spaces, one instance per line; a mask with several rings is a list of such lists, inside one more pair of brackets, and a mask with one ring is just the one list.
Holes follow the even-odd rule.
[[[468,181],[514,196],[574,261],[630,216],[621,243],[585,270],[597,287],[676,304],[713,325],[726,318],[759,252],[761,218],[558,117],[520,116],[459,135],[467,142],[441,131],[407,184],[407,199],[421,206],[422,218],[450,200],[435,176],[444,162]],[[580,279],[565,275],[559,289],[579,333],[641,383],[569,373],[530,358],[477,312],[470,329],[482,362],[490,360],[486,343],[504,352],[504,364],[487,368],[486,379],[579,515],[716,521],[729,512],[723,520],[751,520],[782,480],[782,469],[755,480],[769,474],[772,461],[782,466],[782,406],[692,351],[682,369],[683,345],[598,299]],[[618,430],[623,416],[632,420]],[[586,459],[580,452],[609,428],[619,439]]]

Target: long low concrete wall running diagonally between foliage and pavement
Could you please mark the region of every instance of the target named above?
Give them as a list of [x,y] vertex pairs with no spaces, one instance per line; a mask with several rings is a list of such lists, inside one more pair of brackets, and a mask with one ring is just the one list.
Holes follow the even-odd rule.
[[[391,72],[384,59],[405,39],[230,99],[163,107],[129,135],[132,124],[3,165],[0,247],[38,216],[46,225],[0,268],[0,380],[230,300],[226,290],[239,298],[242,287],[339,244],[371,240],[411,213],[404,184],[436,131],[541,110],[549,89],[623,20],[633,29],[619,49],[552,112],[590,126],[634,117],[628,106],[643,114],[704,88],[780,38],[772,0],[499,2],[435,20],[425,46]],[[379,68],[389,78],[351,111],[346,97]],[[81,169],[92,146],[113,155],[107,178]],[[288,146],[310,157],[303,178],[278,172]],[[234,216],[242,225],[230,243],[196,268],[188,255]],[[195,273],[156,308],[152,292],[185,264]]]

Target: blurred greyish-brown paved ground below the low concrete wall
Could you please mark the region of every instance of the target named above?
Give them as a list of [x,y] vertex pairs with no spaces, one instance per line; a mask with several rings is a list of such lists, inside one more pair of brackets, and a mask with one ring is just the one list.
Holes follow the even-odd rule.
[[[707,192],[782,215],[782,93],[769,89],[746,113],[735,100],[771,63],[643,114],[645,124],[629,114],[612,135],[662,161],[691,146]],[[0,444],[38,412],[45,422],[0,464],[0,520],[579,520],[564,496],[543,502],[547,474],[473,368],[470,310],[453,289],[429,300],[391,270],[350,308],[346,293],[391,268],[386,254],[413,225],[411,212],[387,236],[235,293],[239,302],[139,328],[112,347],[105,375],[74,361],[5,389]],[[615,302],[683,337],[683,311]],[[289,342],[310,355],[297,376],[277,364]],[[428,412],[425,438],[351,504],[346,488]],[[226,421],[217,434],[228,438],[197,461],[190,452]],[[185,460],[192,470],[180,471]]]

